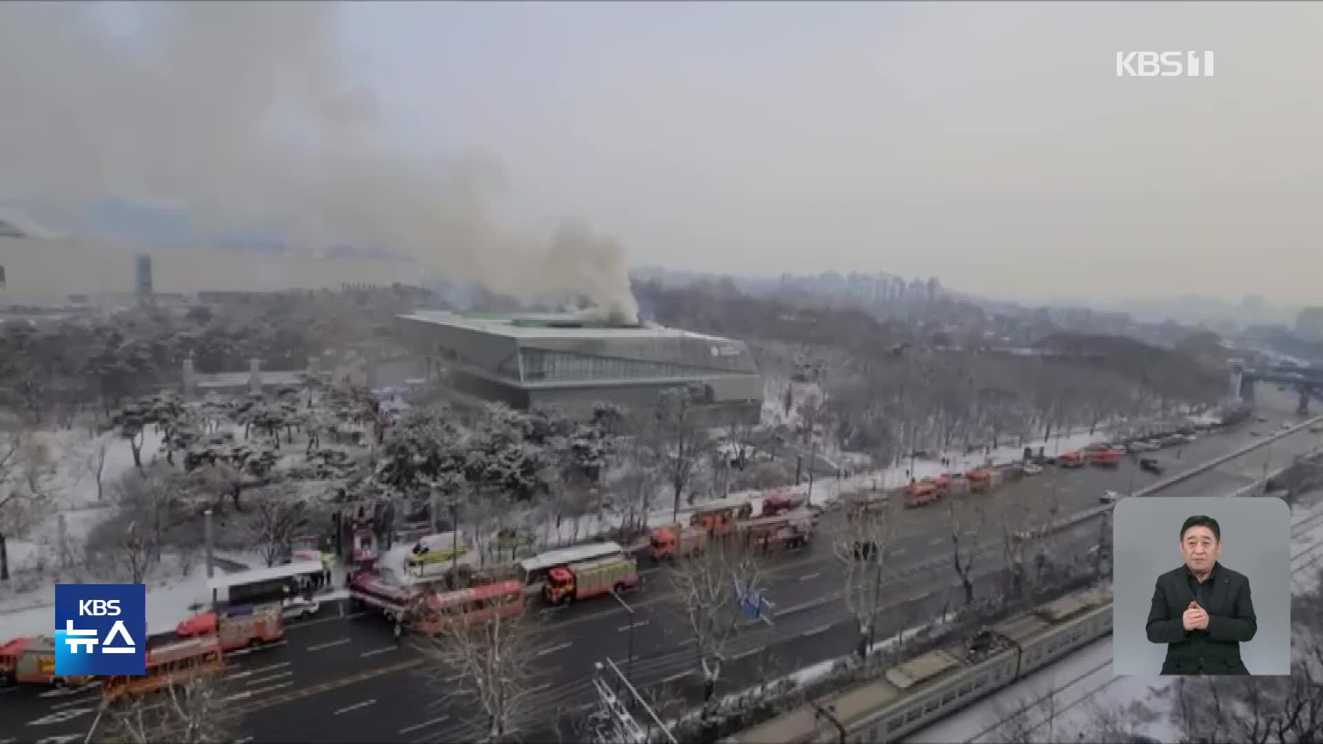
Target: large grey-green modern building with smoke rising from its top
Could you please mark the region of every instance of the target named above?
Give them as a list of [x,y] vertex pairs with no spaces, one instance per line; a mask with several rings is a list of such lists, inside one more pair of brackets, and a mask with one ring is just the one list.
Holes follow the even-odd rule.
[[762,375],[744,342],[570,315],[418,311],[398,323],[429,377],[513,408],[611,401],[643,409],[665,389],[695,384],[716,420],[757,422],[762,412]]

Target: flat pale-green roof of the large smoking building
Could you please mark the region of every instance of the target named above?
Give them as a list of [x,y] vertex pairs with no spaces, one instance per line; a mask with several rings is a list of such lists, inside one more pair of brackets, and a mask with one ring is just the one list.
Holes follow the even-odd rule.
[[480,334],[505,336],[515,340],[532,339],[697,339],[704,342],[734,343],[730,339],[665,328],[662,326],[611,326],[601,320],[585,320],[569,312],[528,312],[519,315],[460,314],[445,310],[417,310],[401,315],[406,320],[451,326]]

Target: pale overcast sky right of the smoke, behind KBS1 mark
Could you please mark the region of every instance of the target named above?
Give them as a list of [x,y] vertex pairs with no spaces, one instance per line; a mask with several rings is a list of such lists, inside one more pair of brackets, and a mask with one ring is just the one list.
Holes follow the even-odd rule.
[[[1323,4],[361,3],[343,20],[385,139],[492,154],[501,212],[583,217],[634,265],[885,270],[1029,301],[1323,294]],[[1118,78],[1123,49],[1213,50],[1216,75]]]

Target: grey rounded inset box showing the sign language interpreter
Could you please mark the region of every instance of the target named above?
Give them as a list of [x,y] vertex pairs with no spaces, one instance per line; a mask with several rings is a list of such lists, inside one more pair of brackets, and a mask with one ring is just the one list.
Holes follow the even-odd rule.
[[1113,556],[1115,674],[1290,674],[1291,510],[1282,499],[1122,499]]

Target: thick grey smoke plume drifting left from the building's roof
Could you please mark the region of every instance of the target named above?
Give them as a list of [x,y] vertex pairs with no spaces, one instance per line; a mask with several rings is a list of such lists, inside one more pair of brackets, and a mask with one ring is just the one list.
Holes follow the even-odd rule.
[[165,201],[202,230],[385,248],[447,279],[635,319],[619,244],[579,221],[523,234],[496,217],[492,159],[389,142],[336,4],[126,8],[0,4],[0,199],[66,217],[105,196]]

